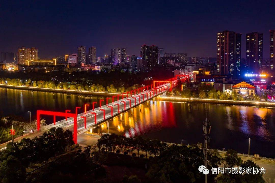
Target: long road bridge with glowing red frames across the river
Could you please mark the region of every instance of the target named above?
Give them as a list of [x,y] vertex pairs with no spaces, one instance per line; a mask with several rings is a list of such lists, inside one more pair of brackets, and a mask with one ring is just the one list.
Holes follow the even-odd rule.
[[[137,88],[126,93],[107,97],[105,100],[99,101],[99,107],[95,108],[97,102],[84,104],[84,112],[78,114],[76,107],[74,112],[65,110],[65,112],[37,110],[37,130],[25,138],[33,138],[42,135],[51,127],[62,127],[64,130],[73,132],[73,140],[77,143],[77,136],[94,128],[100,123],[112,119],[117,115],[123,115],[127,110],[131,110],[140,104],[176,87],[180,82],[188,82],[188,75],[177,75],[165,81],[153,81],[153,84],[141,88]],[[40,126],[40,118],[42,115],[53,116],[53,123],[46,126]],[[64,120],[56,121],[56,116],[65,117]],[[3,148],[3,145],[0,145]]]

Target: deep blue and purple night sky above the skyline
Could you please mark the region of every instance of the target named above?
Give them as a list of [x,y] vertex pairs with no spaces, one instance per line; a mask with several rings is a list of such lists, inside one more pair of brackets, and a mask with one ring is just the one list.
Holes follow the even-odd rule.
[[37,47],[40,58],[96,46],[97,56],[114,47],[139,55],[142,44],[165,52],[216,57],[216,33],[263,32],[269,57],[269,30],[275,29],[275,1],[1,1],[0,51]]

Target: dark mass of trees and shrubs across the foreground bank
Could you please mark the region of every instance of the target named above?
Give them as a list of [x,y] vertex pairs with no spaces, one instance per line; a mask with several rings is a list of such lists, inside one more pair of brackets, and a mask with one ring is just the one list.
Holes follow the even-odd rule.
[[[147,154],[147,158],[146,158]],[[51,128],[40,137],[9,143],[0,151],[1,182],[204,182],[198,167],[204,164],[202,149],[168,146],[158,140],[105,134],[97,146],[80,148],[72,132]],[[257,167],[242,162],[233,150],[221,157],[211,151],[212,167]],[[258,167],[259,168],[259,167]],[[210,174],[208,182],[263,182],[261,174]]]

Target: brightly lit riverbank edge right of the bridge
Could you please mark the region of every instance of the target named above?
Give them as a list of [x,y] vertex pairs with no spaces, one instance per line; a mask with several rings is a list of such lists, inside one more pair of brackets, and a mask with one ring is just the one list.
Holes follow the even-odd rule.
[[271,102],[261,102],[261,101],[233,101],[233,100],[219,100],[219,99],[201,99],[201,98],[182,98],[182,97],[172,97],[163,96],[159,97],[163,101],[175,101],[175,102],[188,102],[188,103],[209,103],[209,104],[222,104],[222,105],[238,105],[238,106],[255,106],[255,107],[273,107],[275,108],[275,103]]

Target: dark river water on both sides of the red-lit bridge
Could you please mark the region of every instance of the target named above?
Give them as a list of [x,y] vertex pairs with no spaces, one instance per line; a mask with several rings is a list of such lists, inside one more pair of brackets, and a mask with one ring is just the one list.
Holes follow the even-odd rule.
[[[0,88],[0,112],[28,118],[28,110],[74,110],[86,102],[105,97],[26,91]],[[250,154],[275,157],[275,109],[216,104],[149,101],[109,123],[109,132],[157,138],[166,142],[197,144],[203,142],[202,122],[211,122],[210,148],[235,149]],[[52,123],[52,119],[47,119]],[[106,123],[93,132],[107,132]]]

